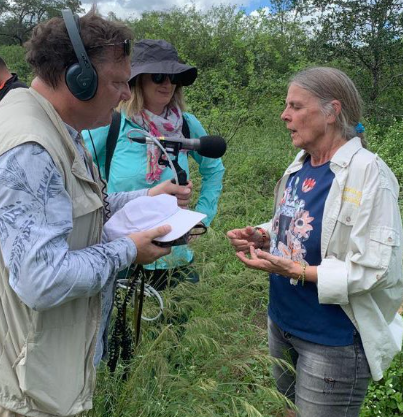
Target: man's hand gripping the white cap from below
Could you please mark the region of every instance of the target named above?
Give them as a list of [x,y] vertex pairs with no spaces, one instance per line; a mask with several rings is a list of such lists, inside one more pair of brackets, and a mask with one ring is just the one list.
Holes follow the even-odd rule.
[[161,258],[161,256],[168,255],[171,252],[171,248],[161,248],[152,241],[157,237],[165,236],[170,231],[171,226],[164,225],[156,229],[129,235],[128,237],[134,242],[137,248],[136,264],[149,264]]

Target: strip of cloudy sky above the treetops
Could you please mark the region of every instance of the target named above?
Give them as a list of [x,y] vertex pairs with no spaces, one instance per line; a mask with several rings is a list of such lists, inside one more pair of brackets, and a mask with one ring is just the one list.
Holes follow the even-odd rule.
[[259,7],[266,7],[269,0],[81,0],[83,7],[89,10],[95,2],[101,14],[107,15],[113,11],[120,18],[140,17],[142,12],[152,10],[167,10],[174,6],[183,7],[194,3],[197,9],[206,10],[217,4],[237,4],[247,13]]

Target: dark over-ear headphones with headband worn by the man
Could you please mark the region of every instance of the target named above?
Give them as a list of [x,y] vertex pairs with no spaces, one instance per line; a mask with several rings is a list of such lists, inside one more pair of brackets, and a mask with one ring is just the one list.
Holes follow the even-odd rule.
[[78,63],[66,68],[66,85],[74,97],[82,101],[91,100],[98,88],[98,75],[85,51],[83,41],[80,37],[79,20],[73,15],[70,9],[62,11],[63,20],[66,25]]

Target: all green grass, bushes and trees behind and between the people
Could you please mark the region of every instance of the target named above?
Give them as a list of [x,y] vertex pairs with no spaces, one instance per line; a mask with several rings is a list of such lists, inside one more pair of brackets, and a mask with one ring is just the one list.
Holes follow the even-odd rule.
[[[237,261],[225,232],[271,217],[274,186],[296,152],[279,118],[295,71],[333,65],[353,78],[366,103],[370,148],[403,180],[403,0],[272,4],[272,13],[255,16],[231,6],[187,6],[127,22],[136,39],[166,39],[198,67],[186,89],[189,110],[210,134],[227,139],[227,171],[217,217],[194,242],[201,282],[164,292],[164,317],[143,324],[133,360],[113,375],[101,367],[88,416],[281,416],[285,400],[274,389],[267,353],[267,276]],[[22,80],[32,74],[20,45],[34,23],[66,5],[81,6],[0,0],[0,56]],[[197,190],[196,173],[193,180]],[[402,365],[400,354],[371,384],[361,417],[403,415]]]

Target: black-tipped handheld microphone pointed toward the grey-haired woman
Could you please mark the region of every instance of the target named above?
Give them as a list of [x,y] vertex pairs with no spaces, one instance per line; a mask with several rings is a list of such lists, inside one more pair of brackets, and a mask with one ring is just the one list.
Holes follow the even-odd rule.
[[[137,143],[153,144],[154,141],[149,136],[135,136],[129,139]],[[189,151],[196,151],[201,156],[208,158],[221,158],[227,150],[225,139],[221,136],[201,136],[199,139],[185,139],[185,138],[168,138],[165,136],[155,137],[161,142],[164,147],[170,144],[178,144],[179,149],[187,149]]]

